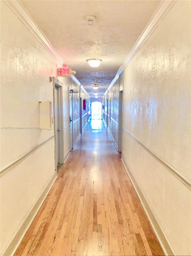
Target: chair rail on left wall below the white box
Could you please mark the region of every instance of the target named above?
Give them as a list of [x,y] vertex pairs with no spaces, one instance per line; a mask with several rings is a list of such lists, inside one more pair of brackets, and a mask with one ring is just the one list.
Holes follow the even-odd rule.
[[41,144],[33,147],[30,151],[28,151],[26,154],[24,154],[23,156],[21,156],[20,158],[14,160],[13,162],[9,163],[6,167],[3,167],[0,171],[0,176],[2,176],[3,174],[5,174],[7,171],[9,171],[10,169],[12,169],[13,167],[15,167],[16,165],[18,165],[20,162],[22,162],[25,158],[27,158],[28,156],[30,156],[33,152],[35,152],[37,149],[39,149],[40,147],[42,147],[44,144],[46,144],[47,142],[49,142],[51,139],[53,139],[55,137],[55,135],[52,135],[50,138],[48,138],[47,140],[45,140],[44,142],[42,142]]

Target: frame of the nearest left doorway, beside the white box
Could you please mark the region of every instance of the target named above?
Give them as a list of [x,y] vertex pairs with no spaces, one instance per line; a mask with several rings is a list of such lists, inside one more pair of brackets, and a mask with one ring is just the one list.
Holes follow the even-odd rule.
[[[62,97],[62,83],[53,76],[53,108],[54,108],[54,134],[55,134],[55,148],[59,147],[59,154],[58,154],[58,163],[64,163],[64,115],[63,115],[63,97]],[[59,109],[60,109],[60,118],[58,123],[60,124],[60,136],[58,145],[56,145],[56,109],[55,109],[55,86],[58,87],[58,96],[57,101],[59,102]],[[56,150],[54,149],[54,159],[55,159],[55,170],[57,171],[57,161],[56,161]]]

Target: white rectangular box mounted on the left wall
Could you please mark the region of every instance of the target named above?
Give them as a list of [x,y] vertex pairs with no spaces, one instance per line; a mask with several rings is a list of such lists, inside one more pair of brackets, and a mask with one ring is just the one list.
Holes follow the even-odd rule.
[[52,129],[52,102],[49,100],[39,102],[39,128]]

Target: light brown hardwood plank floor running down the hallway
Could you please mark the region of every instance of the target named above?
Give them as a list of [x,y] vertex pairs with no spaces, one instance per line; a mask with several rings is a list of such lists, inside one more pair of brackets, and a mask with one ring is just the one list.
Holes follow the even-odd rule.
[[164,255],[101,120],[92,120],[22,240],[21,255]]

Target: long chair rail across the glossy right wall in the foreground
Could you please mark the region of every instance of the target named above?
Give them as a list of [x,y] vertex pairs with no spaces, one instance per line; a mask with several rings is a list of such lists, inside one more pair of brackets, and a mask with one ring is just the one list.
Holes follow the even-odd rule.
[[126,132],[128,135],[131,136],[141,147],[143,147],[148,153],[150,153],[151,156],[153,156],[161,165],[163,165],[167,170],[169,170],[172,174],[175,175],[185,186],[187,186],[189,189],[191,189],[191,181],[188,180],[186,177],[184,177],[182,174],[180,174],[175,168],[167,164],[163,159],[161,159],[159,156],[157,156],[154,152],[149,150],[144,144],[142,144],[137,138],[133,136],[130,132],[128,132],[124,127],[122,127],[124,132]]

